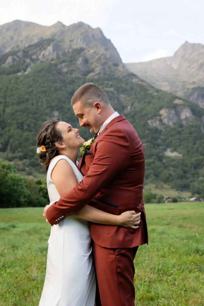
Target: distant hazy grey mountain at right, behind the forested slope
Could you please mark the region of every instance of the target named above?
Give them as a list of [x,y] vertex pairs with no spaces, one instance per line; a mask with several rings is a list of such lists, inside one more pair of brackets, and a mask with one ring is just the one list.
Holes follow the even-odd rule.
[[186,41],[173,56],[125,65],[156,88],[204,108],[204,45]]

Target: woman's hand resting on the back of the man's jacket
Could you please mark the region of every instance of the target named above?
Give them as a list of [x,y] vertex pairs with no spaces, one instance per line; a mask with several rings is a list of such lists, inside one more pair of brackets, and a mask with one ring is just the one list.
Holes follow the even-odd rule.
[[137,229],[140,223],[141,212],[135,214],[135,211],[125,211],[118,216],[119,226]]

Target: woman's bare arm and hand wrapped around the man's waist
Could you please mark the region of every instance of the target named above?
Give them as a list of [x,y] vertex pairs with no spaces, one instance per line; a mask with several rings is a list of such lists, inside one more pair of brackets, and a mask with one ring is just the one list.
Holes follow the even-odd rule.
[[[63,196],[78,184],[72,167],[65,159],[61,159],[57,162],[52,171],[51,178],[60,196]],[[135,222],[137,221],[137,224],[139,224],[140,214],[141,213],[135,214],[135,211],[126,211],[117,216],[101,211],[90,205],[85,205],[75,215],[81,219],[95,223],[118,225],[136,229],[139,226],[135,226]]]

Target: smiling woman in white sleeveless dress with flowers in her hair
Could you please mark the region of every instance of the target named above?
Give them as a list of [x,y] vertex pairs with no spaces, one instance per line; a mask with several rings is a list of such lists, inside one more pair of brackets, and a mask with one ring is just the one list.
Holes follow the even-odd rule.
[[[84,140],[78,132],[70,124],[52,118],[38,133],[37,153],[47,172],[50,205],[83,179],[76,159]],[[52,226],[39,306],[94,306],[95,269],[88,221],[135,229],[140,213],[126,211],[117,216],[86,205]]]

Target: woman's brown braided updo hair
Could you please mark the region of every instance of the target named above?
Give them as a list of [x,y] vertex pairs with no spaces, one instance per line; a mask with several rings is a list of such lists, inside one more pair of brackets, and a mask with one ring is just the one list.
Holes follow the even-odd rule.
[[61,131],[56,127],[58,122],[60,122],[59,118],[51,118],[45,121],[45,123],[43,123],[41,126],[37,136],[37,146],[44,146],[46,149],[46,151],[39,152],[41,165],[45,168],[46,172],[50,165],[51,159],[59,155],[55,143],[57,141],[63,140]]

